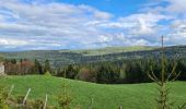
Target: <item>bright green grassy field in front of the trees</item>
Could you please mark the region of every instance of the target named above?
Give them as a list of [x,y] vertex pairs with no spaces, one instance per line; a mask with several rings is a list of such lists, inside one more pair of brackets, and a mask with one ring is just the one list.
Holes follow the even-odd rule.
[[[28,98],[45,99],[45,94],[49,95],[49,104],[56,105],[56,96],[60,92],[63,78],[27,75],[27,76],[7,76],[2,78],[1,84],[7,84],[15,88],[12,95],[25,95],[28,88],[32,88]],[[156,95],[156,85],[148,84],[125,84],[125,85],[101,85],[80,81],[66,80],[74,100],[73,106],[81,109],[88,109],[91,98],[94,98],[94,109],[154,109],[154,98]],[[170,83],[172,101],[181,105],[186,101],[186,82]]]

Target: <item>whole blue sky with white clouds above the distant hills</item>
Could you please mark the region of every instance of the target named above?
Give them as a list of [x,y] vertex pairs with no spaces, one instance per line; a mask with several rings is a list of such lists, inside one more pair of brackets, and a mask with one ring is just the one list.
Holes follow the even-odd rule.
[[186,0],[0,0],[0,51],[186,45]]

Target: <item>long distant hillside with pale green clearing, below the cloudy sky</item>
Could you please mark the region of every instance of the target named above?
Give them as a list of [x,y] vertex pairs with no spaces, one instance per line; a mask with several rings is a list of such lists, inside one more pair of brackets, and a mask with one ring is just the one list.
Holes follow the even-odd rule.
[[[44,62],[50,60],[54,66],[72,63],[97,61],[118,61],[126,59],[159,58],[161,49],[158,47],[107,47],[90,50],[34,50],[19,52],[1,52],[8,59],[38,59]],[[186,58],[186,46],[165,48],[168,58]]]

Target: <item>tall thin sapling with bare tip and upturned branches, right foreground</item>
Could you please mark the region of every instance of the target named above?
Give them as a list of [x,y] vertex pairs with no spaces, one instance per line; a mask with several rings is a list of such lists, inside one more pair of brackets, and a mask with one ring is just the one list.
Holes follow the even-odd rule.
[[164,44],[163,44],[163,36],[162,36],[162,57],[161,57],[161,76],[158,77],[155,73],[153,72],[153,68],[151,66],[151,72],[148,73],[149,77],[159,85],[159,98],[156,99],[158,102],[158,109],[170,109],[172,106],[172,102],[170,102],[168,99],[168,88],[166,86],[167,82],[172,82],[176,80],[179,75],[179,73],[176,73],[176,64],[173,65],[172,72],[166,72],[166,59],[164,56]]

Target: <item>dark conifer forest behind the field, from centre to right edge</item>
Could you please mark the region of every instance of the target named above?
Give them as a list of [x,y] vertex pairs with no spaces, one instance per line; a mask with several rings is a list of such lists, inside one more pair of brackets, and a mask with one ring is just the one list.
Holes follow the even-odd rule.
[[[153,66],[153,72],[156,72],[155,75],[158,77],[160,76],[160,59],[155,61],[151,59],[136,59],[116,62],[70,64],[58,70],[56,75],[63,76],[66,72],[66,77],[68,78],[101,84],[147,83],[152,82],[147,74],[151,72],[150,66]],[[171,73],[174,64],[177,64],[175,71],[181,72],[178,80],[186,81],[186,60],[167,60],[167,64],[165,64],[166,72]]]

